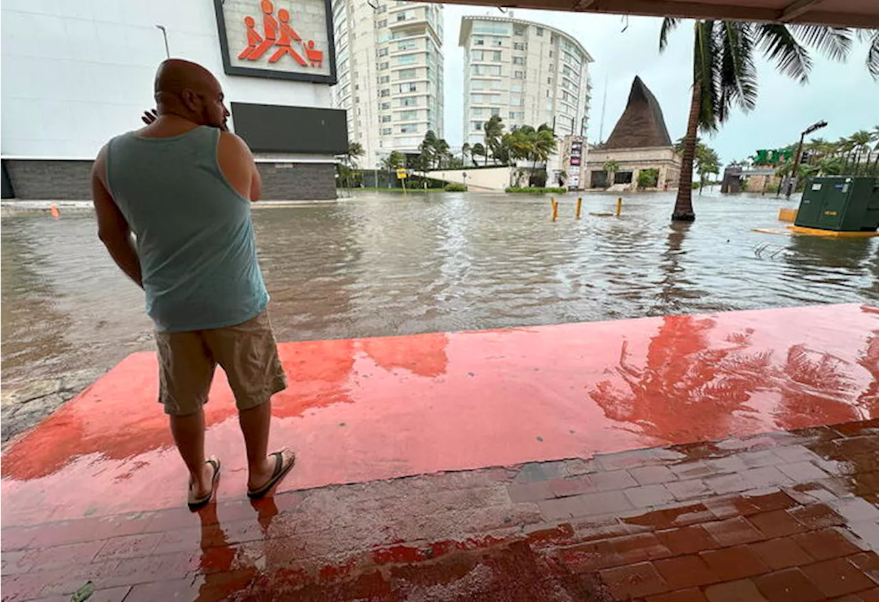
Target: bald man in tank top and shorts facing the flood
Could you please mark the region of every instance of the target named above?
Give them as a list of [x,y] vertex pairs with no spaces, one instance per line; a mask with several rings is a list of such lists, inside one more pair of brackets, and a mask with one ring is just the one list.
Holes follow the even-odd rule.
[[261,182],[251,150],[226,131],[222,88],[207,69],[169,59],[155,90],[156,119],[101,149],[91,192],[98,236],[142,286],[156,324],[159,402],[189,468],[194,510],[211,500],[220,473],[220,461],[205,457],[202,411],[217,364],[235,393],[248,496],[265,496],[295,456],[267,455],[270,400],[287,382],[257,262],[250,201]]

